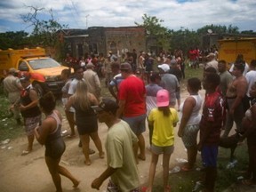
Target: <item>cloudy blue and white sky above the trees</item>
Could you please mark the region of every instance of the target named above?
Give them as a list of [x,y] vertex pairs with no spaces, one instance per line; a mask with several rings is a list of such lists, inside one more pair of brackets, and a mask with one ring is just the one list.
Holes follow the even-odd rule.
[[147,13],[174,30],[231,24],[240,31],[256,31],[256,0],[2,0],[0,32],[31,30],[20,19],[30,12],[26,5],[52,9],[54,18],[68,28],[134,26]]

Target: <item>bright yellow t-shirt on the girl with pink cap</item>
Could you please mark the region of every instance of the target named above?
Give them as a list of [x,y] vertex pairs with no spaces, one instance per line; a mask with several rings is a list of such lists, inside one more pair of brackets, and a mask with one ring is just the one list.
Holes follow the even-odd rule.
[[156,146],[166,147],[174,144],[173,124],[179,122],[179,117],[175,108],[170,110],[170,116],[164,116],[163,111],[153,108],[148,116],[148,121],[154,124],[152,143]]

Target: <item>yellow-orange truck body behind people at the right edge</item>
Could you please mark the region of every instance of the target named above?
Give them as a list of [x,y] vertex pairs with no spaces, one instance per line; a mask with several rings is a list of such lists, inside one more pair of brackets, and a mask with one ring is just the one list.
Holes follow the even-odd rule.
[[250,64],[256,60],[256,38],[239,38],[219,40],[219,60],[228,64],[236,60],[237,54],[243,54],[244,60]]

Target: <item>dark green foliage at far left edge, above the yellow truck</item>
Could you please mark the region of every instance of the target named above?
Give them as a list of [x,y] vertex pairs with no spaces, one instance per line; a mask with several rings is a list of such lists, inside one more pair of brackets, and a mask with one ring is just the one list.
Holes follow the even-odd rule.
[[19,49],[24,44],[28,44],[28,33],[25,31],[8,31],[0,33],[0,49]]

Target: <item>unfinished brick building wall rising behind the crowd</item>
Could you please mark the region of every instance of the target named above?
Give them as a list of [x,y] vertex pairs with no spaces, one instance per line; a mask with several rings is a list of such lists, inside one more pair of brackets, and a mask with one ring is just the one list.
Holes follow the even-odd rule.
[[[145,29],[141,27],[92,27],[80,30],[81,33],[77,33],[79,29],[74,29],[74,31],[76,31],[76,35],[73,36],[72,31],[69,32],[65,41],[68,52],[76,59],[84,56],[86,52],[94,54],[102,52],[107,56],[108,51],[112,51],[121,57],[122,53],[132,52],[132,49],[135,49],[137,53],[146,51]],[[78,37],[79,35],[88,36]]]

